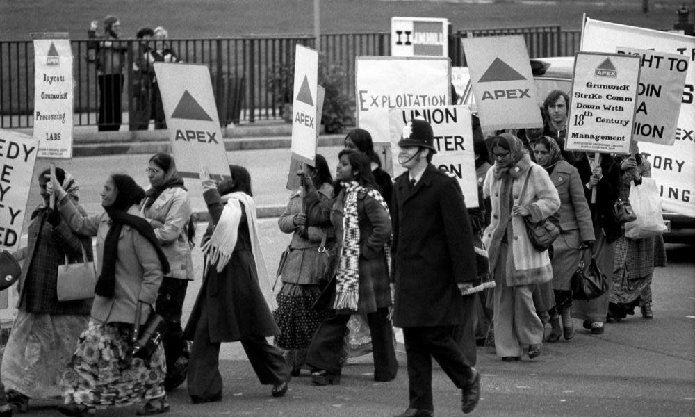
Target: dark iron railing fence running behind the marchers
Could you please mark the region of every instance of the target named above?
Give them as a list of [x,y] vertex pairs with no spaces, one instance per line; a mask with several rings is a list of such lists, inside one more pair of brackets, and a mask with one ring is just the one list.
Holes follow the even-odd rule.
[[[466,60],[460,39],[469,36],[520,34],[532,58],[573,55],[579,48],[580,31],[561,31],[559,26],[476,29],[450,35],[452,65]],[[74,57],[74,123],[95,125],[99,117],[100,80],[104,74],[123,74],[121,112],[131,121],[142,110],[142,99],[152,95],[152,79],[138,40],[120,40],[105,49],[117,54],[99,68],[90,49],[94,40],[72,40]],[[208,65],[218,105],[220,123],[243,120],[275,120],[282,117],[284,102],[291,102],[291,72],[295,44],[314,47],[309,35],[250,36],[242,38],[199,38],[167,40],[177,58],[186,63]],[[154,40],[150,41],[154,45]],[[347,74],[345,93],[354,97],[354,62],[361,55],[391,54],[389,33],[335,33],[320,37],[322,63],[341,65]],[[121,78],[116,76],[116,78]],[[108,85],[104,83],[101,88]],[[31,40],[0,41],[0,127],[33,126],[34,62]],[[151,106],[151,104],[150,104]],[[147,110],[147,109],[146,109]],[[154,110],[150,108],[150,113]],[[117,109],[106,109],[112,113]],[[151,114],[151,115],[152,115]],[[126,124],[126,122],[122,122]]]

